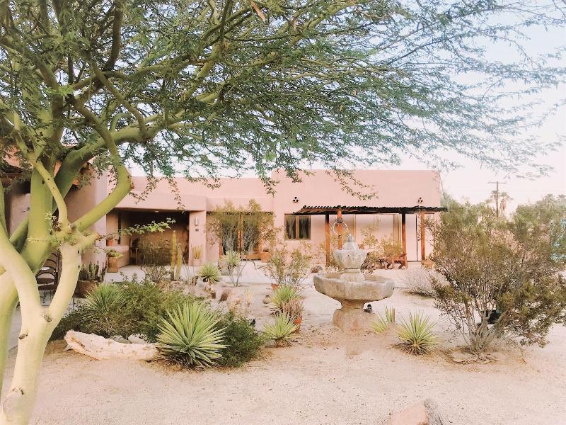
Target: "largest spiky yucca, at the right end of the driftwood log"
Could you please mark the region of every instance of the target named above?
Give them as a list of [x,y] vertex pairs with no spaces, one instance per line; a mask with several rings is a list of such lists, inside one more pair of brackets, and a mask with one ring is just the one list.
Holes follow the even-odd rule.
[[224,328],[218,328],[220,317],[200,302],[185,302],[168,318],[162,319],[157,336],[163,354],[189,368],[208,368],[221,358],[226,348]]

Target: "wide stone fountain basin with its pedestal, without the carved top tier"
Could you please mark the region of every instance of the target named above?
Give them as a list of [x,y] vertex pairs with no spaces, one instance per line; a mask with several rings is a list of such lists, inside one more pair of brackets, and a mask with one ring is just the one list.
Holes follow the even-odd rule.
[[319,293],[342,304],[342,308],[334,312],[333,323],[344,331],[369,329],[375,314],[364,312],[364,304],[393,295],[393,280],[363,274],[359,269],[346,273],[320,273],[313,280]]

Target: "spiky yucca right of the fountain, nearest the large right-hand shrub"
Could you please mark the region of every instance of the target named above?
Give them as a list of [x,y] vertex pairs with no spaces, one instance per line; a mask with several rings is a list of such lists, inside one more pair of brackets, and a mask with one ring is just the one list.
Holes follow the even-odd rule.
[[397,336],[405,351],[411,354],[430,353],[437,345],[437,337],[432,332],[434,325],[435,323],[430,323],[430,318],[424,317],[422,312],[409,314],[408,322],[401,318]]

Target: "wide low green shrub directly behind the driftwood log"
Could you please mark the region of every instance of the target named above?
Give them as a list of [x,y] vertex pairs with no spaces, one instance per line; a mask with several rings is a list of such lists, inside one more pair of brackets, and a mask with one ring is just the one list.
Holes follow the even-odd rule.
[[[119,300],[109,302],[107,293],[104,301],[99,299],[107,291],[107,286],[117,288]],[[117,285],[100,285],[92,296],[91,302],[87,298],[76,310],[63,317],[52,339],[62,338],[73,329],[106,337],[121,335],[127,338],[131,334],[144,334],[149,341],[156,341],[158,324],[167,312],[185,301],[195,300],[191,295],[166,291],[156,283],[149,280],[138,282],[136,278]]]

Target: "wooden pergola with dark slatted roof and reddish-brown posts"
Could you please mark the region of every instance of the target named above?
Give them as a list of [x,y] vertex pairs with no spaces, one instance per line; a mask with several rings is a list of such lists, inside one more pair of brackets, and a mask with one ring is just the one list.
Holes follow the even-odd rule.
[[330,214],[336,215],[336,225],[338,233],[338,249],[342,248],[342,214],[400,214],[401,215],[401,239],[403,243],[403,266],[407,266],[407,214],[420,215],[420,238],[421,238],[421,258],[425,258],[424,252],[424,214],[427,212],[447,211],[445,207],[427,207],[424,205],[415,205],[414,207],[352,207],[345,205],[335,206],[307,206],[294,212],[294,215],[324,215],[325,218],[325,250],[326,265],[330,263]]

